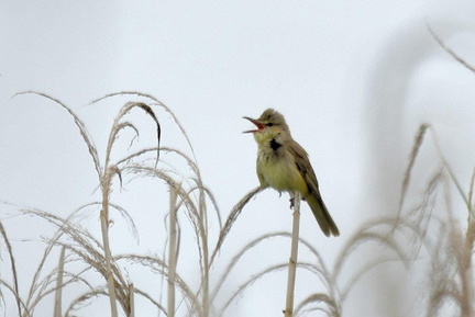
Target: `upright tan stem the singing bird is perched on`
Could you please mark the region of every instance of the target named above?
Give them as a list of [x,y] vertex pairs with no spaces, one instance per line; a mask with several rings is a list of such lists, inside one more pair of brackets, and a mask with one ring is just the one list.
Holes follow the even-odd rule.
[[294,196],[294,224],[292,224],[291,249],[290,249],[289,270],[288,270],[288,280],[287,280],[287,299],[286,299],[285,317],[294,316],[294,294],[295,294],[296,273],[297,273],[299,229],[300,229],[300,193],[296,192]]

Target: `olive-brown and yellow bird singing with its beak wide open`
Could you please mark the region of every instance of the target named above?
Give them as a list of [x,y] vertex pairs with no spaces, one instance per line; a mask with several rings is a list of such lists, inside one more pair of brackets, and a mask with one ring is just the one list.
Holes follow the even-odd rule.
[[[281,192],[301,194],[308,203],[322,233],[340,236],[340,230],[331,217],[319,191],[317,176],[307,151],[291,137],[284,115],[267,109],[258,118],[244,116],[256,129],[252,133],[257,143],[257,178],[262,189],[273,188]],[[292,206],[292,199],[290,200]]]

